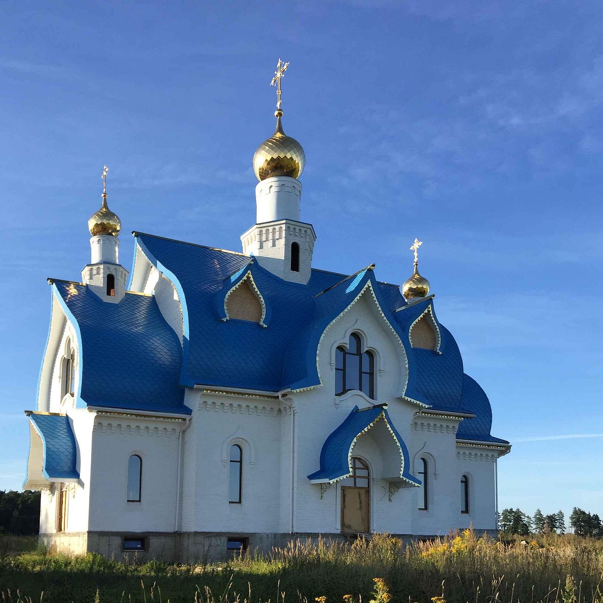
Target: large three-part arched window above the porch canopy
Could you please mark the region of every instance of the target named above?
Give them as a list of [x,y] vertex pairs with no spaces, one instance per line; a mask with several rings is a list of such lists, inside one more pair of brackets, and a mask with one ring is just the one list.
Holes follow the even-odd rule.
[[362,341],[356,333],[350,335],[347,350],[339,346],[335,350],[335,393],[361,390],[374,398],[374,357],[362,352]]

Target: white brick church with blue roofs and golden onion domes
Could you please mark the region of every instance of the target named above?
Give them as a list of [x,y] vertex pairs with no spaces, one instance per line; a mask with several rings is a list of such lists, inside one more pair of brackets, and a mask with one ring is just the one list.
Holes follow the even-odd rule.
[[186,562],[318,535],[496,532],[510,444],[438,321],[421,242],[401,286],[374,264],[312,264],[287,66],[242,251],[134,232],[128,272],[105,168],[81,281],[48,279],[24,482],[46,546]]

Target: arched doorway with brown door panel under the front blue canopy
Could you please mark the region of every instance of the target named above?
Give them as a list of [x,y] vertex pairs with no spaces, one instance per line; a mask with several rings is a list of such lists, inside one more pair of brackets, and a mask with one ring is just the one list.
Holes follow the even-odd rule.
[[341,481],[341,531],[370,532],[370,470],[358,456],[352,457],[352,475]]

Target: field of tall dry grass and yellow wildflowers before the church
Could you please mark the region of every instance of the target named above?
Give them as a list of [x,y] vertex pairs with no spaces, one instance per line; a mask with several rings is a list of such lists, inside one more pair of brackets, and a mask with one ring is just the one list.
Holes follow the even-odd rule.
[[[603,603],[603,541],[572,535],[522,543],[465,531],[412,546],[375,535],[351,546],[291,544],[209,566],[16,554],[14,545],[0,546],[3,603]],[[384,583],[374,578],[391,595],[378,595]]]

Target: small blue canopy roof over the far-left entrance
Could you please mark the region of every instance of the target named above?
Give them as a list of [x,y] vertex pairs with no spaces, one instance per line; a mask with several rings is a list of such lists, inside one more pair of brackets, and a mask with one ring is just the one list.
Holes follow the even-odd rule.
[[42,475],[46,479],[79,479],[74,432],[65,415],[46,415],[33,412],[30,421],[42,438]]

